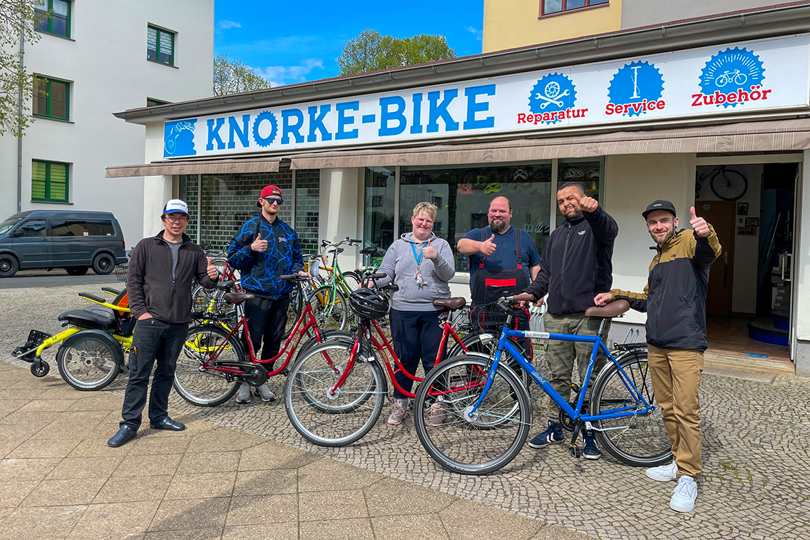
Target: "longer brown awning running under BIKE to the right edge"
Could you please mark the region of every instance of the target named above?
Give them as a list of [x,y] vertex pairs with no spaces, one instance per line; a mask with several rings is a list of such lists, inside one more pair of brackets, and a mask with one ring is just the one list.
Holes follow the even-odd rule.
[[419,148],[308,152],[293,155],[291,168],[469,165],[622,154],[787,152],[805,149],[810,149],[810,118]]

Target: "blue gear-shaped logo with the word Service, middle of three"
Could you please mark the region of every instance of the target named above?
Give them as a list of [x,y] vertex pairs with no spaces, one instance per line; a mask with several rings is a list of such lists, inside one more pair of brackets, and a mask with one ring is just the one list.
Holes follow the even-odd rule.
[[608,102],[613,105],[636,105],[622,114],[639,116],[646,113],[644,101],[658,101],[663,95],[663,75],[649,62],[630,62],[613,75],[608,87]]

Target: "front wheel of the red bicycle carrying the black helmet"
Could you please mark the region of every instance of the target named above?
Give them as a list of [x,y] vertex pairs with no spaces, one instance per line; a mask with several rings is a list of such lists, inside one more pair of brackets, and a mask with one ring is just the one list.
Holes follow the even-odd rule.
[[330,447],[352,444],[380,418],[386,379],[376,361],[358,358],[343,385],[330,394],[347,366],[351,350],[348,341],[324,343],[298,358],[287,376],[287,417],[310,443]]

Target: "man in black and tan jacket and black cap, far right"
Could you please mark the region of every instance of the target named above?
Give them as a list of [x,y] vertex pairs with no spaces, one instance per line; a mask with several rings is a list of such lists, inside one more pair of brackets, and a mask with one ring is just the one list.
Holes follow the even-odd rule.
[[657,200],[642,213],[656,243],[643,294],[613,289],[594,298],[597,306],[625,299],[647,313],[647,347],[655,401],[675,461],[647,469],[653,480],[678,481],[669,506],[691,512],[697,499],[701,461],[701,409],[697,387],[706,350],[706,293],[709,268],[720,255],[711,225],[690,210],[692,230],[678,228],[675,205]]

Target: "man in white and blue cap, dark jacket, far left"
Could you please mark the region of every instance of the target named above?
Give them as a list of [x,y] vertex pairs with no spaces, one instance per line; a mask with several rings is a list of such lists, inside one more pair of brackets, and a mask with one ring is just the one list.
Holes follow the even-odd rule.
[[149,423],[153,429],[182,431],[185,426],[168,418],[168,393],[172,391],[177,357],[191,319],[191,285],[194,278],[213,289],[218,279],[211,259],[184,232],[189,208],[172,199],[160,216],[164,230],[143,238],[130,256],[126,292],[136,319],[130,349],[130,380],[126,384],[122,422],[107,444],[119,447],[138,434],[152,367],[157,361],[149,397]]

